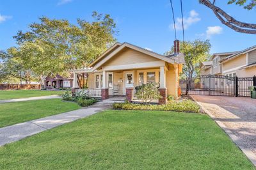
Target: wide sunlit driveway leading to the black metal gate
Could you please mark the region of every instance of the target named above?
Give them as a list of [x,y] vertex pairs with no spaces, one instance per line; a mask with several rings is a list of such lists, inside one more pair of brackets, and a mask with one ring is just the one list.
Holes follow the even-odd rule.
[[241,139],[241,146],[256,155],[256,99],[199,95],[192,97]]

